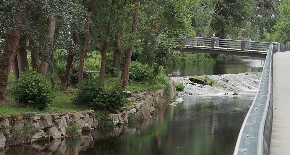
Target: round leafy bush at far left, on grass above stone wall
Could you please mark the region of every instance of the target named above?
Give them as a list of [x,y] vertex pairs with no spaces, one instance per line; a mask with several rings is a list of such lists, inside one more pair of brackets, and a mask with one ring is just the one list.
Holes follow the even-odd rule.
[[43,110],[53,101],[50,82],[36,71],[26,71],[9,89],[11,96],[22,105]]

